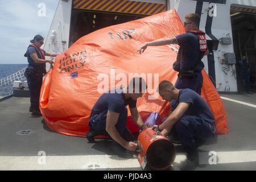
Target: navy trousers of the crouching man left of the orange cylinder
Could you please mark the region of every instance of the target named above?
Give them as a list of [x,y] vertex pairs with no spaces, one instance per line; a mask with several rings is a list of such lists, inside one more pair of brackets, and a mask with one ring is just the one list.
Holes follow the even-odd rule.
[[[100,133],[105,133],[106,131],[106,114],[108,110],[103,111],[100,114],[93,114],[90,116],[89,125],[90,127],[95,130],[99,131]],[[119,118],[115,128],[117,129],[118,133],[121,135],[123,139],[127,142],[133,141],[134,137],[131,132],[126,127],[126,119],[127,119],[127,108],[123,109],[119,114]]]

